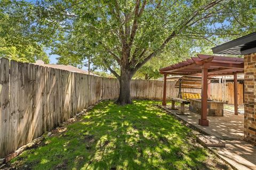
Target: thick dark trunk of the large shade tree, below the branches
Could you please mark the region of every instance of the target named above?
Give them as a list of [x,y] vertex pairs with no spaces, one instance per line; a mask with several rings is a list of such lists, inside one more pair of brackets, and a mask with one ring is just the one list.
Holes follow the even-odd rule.
[[117,99],[117,103],[120,105],[132,104],[131,99],[131,88],[130,83],[132,79],[132,73],[129,70],[121,71],[121,75],[119,78],[120,91],[119,98]]

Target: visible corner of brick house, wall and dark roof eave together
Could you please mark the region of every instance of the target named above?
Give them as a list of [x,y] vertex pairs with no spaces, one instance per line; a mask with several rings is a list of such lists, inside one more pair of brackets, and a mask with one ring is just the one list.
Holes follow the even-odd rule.
[[244,140],[256,145],[256,32],[214,47],[212,51],[244,55]]

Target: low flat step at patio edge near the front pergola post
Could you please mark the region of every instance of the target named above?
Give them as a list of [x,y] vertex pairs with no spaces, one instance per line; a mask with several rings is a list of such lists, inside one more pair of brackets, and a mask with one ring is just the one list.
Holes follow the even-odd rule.
[[198,135],[196,140],[205,147],[226,147],[224,142],[212,135]]

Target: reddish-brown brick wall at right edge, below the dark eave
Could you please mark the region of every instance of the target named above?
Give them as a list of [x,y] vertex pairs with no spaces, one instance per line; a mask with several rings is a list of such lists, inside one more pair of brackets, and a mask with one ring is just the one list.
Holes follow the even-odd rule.
[[244,56],[244,139],[256,145],[256,53]]

